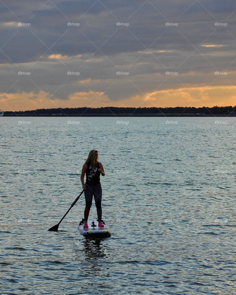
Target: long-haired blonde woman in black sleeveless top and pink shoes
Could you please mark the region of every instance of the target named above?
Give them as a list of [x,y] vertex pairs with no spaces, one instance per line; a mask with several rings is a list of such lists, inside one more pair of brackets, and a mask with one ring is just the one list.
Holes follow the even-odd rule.
[[[86,173],[86,182],[84,183],[84,174]],[[84,189],[85,209],[84,209],[84,227],[88,227],[89,211],[92,206],[92,199],[94,196],[95,205],[97,208],[98,226],[104,227],[102,224],[102,186],[100,183],[100,174],[105,176],[102,163],[98,162],[98,151],[91,150],[88,158],[83,165],[80,180]],[[88,184],[89,183],[89,184]]]

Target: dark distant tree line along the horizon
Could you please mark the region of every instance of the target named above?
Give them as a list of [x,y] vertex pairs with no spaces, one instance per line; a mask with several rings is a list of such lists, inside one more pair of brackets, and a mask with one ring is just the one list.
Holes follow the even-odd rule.
[[37,109],[34,111],[16,111],[16,112],[4,112],[4,115],[20,115],[20,116],[38,116],[38,115],[96,115],[96,114],[227,114],[227,112],[235,111],[236,106],[213,106],[213,107],[144,107],[144,108],[135,108],[135,107],[101,107],[101,108],[64,108],[64,109]]

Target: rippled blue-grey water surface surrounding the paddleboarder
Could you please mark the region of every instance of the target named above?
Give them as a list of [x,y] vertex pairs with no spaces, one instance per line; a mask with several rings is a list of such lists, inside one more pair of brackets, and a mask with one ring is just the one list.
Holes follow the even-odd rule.
[[[1,117],[0,126],[1,294],[235,294],[235,118]],[[48,232],[82,191],[94,148],[112,236],[77,232],[84,195]]]

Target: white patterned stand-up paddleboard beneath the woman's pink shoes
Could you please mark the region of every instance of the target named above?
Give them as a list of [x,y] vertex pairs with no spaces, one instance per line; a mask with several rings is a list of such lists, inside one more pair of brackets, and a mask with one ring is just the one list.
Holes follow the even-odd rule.
[[104,227],[98,226],[98,221],[96,219],[88,219],[88,226],[84,228],[84,218],[82,218],[82,221],[78,225],[78,231],[81,235],[85,237],[94,237],[94,238],[106,238],[111,236],[111,231],[109,227],[105,224],[105,222],[102,220],[102,223],[104,224]]

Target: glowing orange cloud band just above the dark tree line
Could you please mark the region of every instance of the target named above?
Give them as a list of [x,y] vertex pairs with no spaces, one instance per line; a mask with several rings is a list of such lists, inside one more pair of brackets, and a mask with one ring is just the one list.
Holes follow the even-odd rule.
[[[2,95],[2,94],[1,94]],[[47,94],[49,97],[49,94]],[[109,97],[102,92],[80,91],[69,96],[67,100],[48,99],[43,92],[35,94],[17,93],[4,94],[1,97],[1,106],[5,111],[24,110],[22,106],[27,105],[27,110],[50,109],[50,108],[75,108],[75,107],[170,107],[175,106],[208,106],[215,105],[235,106],[235,87],[217,86],[217,87],[193,87],[189,89],[167,89],[161,91],[147,92],[144,95],[137,94],[119,101],[111,101]]]

